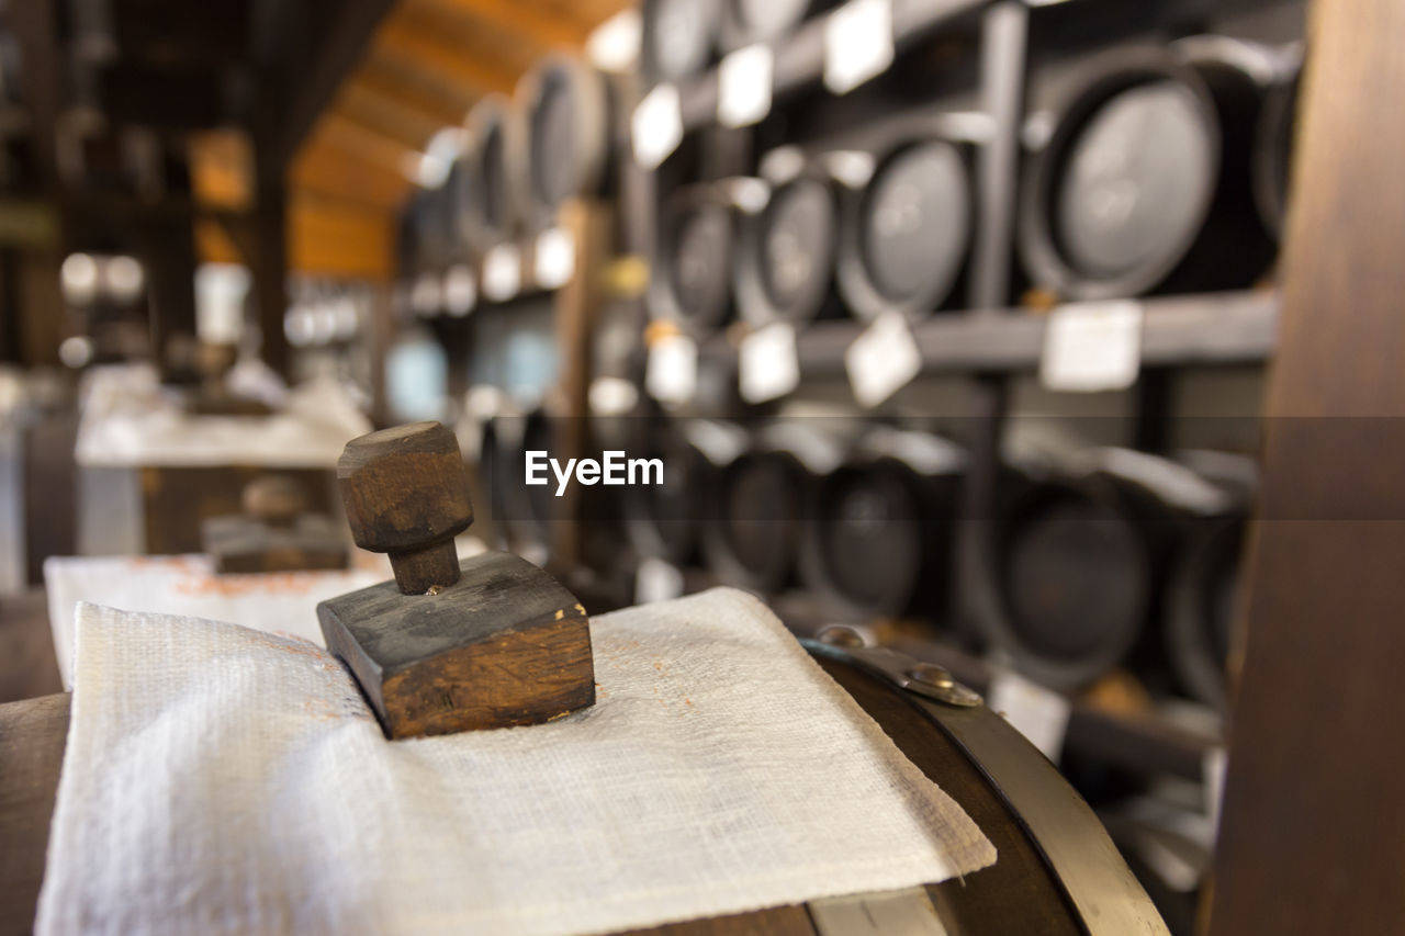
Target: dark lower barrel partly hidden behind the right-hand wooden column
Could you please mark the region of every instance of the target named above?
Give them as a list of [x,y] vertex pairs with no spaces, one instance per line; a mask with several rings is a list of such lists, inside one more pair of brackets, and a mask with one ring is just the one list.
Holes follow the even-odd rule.
[[1217,708],[1225,706],[1242,550],[1242,517],[1198,523],[1182,542],[1166,587],[1166,658],[1180,687]]

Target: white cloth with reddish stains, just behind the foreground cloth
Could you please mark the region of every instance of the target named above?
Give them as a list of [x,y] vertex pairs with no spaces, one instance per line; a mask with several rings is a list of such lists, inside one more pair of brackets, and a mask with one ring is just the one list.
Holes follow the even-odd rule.
[[[370,554],[357,554],[371,558]],[[63,687],[73,687],[73,613],[79,602],[126,611],[232,621],[323,645],[318,602],[389,578],[389,568],[350,572],[215,575],[208,555],[53,557],[44,562],[49,628]]]

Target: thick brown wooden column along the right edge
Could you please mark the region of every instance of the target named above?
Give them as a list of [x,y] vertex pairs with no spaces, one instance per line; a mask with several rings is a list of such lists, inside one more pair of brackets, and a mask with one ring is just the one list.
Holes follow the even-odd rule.
[[1405,4],[1314,4],[1211,936],[1405,932]]

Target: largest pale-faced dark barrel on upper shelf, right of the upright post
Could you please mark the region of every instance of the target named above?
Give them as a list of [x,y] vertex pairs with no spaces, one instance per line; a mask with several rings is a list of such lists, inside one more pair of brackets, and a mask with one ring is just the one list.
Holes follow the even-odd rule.
[[1248,287],[1273,257],[1253,204],[1260,76],[1241,44],[1092,62],[1030,160],[1020,254],[1073,299]]

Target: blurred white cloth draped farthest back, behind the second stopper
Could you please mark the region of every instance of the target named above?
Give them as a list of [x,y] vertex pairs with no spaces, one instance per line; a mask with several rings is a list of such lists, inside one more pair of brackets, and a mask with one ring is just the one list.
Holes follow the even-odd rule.
[[302,384],[287,406],[266,417],[191,416],[150,386],[94,388],[74,447],[84,467],[267,465],[325,468],[341,448],[371,431],[347,392],[330,379]]

